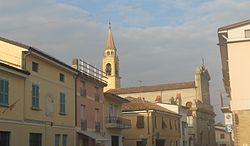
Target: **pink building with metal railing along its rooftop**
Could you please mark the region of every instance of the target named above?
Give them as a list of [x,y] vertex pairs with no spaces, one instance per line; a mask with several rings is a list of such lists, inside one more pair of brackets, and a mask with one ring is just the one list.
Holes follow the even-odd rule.
[[76,77],[76,145],[104,145],[102,71],[80,60],[73,60]]

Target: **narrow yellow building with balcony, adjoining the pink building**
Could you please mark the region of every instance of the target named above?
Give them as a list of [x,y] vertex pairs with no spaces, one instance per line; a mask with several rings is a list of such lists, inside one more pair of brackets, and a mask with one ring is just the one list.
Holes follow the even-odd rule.
[[[131,121],[123,118],[122,103],[128,100],[112,93],[104,93],[105,146],[123,146],[122,131],[131,128]],[[126,146],[126,145],[124,145]]]

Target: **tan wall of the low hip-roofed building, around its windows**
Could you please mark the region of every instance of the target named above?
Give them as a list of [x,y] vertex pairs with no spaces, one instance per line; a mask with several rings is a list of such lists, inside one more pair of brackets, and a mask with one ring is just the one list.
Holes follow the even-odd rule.
[[[151,111],[151,110],[150,110]],[[137,115],[144,116],[144,128],[137,128]],[[180,131],[178,127],[179,118],[178,116],[173,116],[166,114],[165,112],[139,112],[136,111],[125,113],[124,117],[131,120],[131,129],[124,129],[122,135],[124,136],[125,146],[136,146],[136,142],[140,141],[142,138],[147,139],[147,146],[154,146],[156,141],[156,135],[159,133],[159,139],[165,140],[165,146],[170,146],[170,141],[175,144],[176,141],[179,143]],[[155,127],[155,118],[157,122],[157,127]],[[162,117],[167,124],[167,128],[162,128]],[[170,129],[170,119],[172,123],[172,129]],[[175,121],[177,130],[175,129]]]

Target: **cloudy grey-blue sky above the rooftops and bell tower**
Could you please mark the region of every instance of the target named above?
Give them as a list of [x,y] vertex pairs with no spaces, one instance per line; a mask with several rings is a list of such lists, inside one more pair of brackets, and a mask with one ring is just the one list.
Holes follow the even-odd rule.
[[0,36],[101,68],[110,21],[122,87],[193,81],[204,59],[218,122],[225,91],[217,29],[249,19],[249,7],[248,0],[0,0]]

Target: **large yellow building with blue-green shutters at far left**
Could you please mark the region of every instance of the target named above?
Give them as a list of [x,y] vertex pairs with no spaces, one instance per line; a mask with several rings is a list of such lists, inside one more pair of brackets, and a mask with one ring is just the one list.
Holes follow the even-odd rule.
[[74,146],[77,72],[38,49],[5,38],[0,38],[0,56],[1,64],[22,73],[1,70],[0,108],[6,110],[0,116],[1,136],[8,133],[10,145]]

